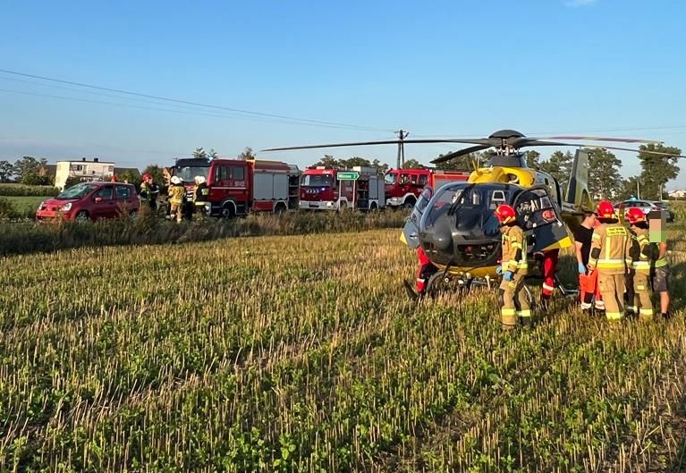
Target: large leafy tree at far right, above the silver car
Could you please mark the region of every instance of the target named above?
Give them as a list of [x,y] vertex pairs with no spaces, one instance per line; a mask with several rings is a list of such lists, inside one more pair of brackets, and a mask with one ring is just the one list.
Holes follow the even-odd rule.
[[[646,151],[668,153],[673,156],[656,155]],[[639,160],[642,172],[640,173],[640,195],[642,198],[662,198],[660,190],[665,189],[665,184],[679,174],[679,155],[682,150],[674,147],[650,143],[639,146]]]

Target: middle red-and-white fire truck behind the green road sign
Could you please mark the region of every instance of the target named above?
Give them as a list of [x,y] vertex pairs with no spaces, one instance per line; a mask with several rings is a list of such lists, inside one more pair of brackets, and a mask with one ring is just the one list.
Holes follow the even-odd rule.
[[383,176],[373,167],[309,166],[302,172],[300,207],[303,210],[384,208]]

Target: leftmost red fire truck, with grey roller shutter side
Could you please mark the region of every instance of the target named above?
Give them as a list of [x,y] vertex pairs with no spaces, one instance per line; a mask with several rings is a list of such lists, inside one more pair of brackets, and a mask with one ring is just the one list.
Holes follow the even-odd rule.
[[300,171],[296,165],[261,159],[178,159],[170,174],[181,178],[190,202],[195,176],[205,177],[208,215],[233,217],[298,208]]

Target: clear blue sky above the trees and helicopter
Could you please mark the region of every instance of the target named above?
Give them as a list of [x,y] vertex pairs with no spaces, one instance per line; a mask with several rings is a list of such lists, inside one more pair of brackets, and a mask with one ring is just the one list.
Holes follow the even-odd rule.
[[[8,1],[0,69],[257,114],[0,72],[0,160],[98,156],[142,169],[197,147],[237,156],[399,128],[605,134],[686,151],[684,20],[675,0]],[[428,164],[452,149],[406,156]],[[301,167],[325,154],[394,165],[396,148],[258,152]],[[639,173],[635,155],[617,156],[623,175]],[[686,170],[667,188],[686,189]]]

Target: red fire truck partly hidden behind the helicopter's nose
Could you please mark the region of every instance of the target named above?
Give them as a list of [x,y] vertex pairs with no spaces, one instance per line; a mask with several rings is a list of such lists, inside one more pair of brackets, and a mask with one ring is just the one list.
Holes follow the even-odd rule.
[[434,190],[448,182],[467,181],[470,173],[440,169],[391,169],[385,173],[385,205],[414,207],[419,194],[428,184]]

